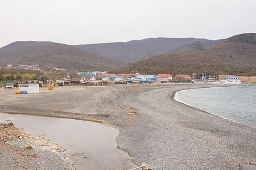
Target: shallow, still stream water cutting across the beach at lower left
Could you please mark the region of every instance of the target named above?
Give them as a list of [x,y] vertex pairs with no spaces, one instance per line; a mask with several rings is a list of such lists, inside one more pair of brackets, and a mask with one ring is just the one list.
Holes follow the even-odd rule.
[[[6,121],[6,118],[14,120]],[[57,142],[61,150],[68,153],[65,156],[76,169],[136,167],[126,152],[117,149],[115,138],[119,134],[118,129],[96,122],[1,112],[0,122],[13,122],[27,133],[46,135],[46,138]]]

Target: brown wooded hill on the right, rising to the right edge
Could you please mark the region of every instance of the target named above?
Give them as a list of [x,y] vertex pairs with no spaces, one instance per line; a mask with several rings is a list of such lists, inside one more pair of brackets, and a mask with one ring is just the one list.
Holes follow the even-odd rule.
[[207,49],[173,52],[130,63],[113,73],[256,75],[256,33],[222,40]]

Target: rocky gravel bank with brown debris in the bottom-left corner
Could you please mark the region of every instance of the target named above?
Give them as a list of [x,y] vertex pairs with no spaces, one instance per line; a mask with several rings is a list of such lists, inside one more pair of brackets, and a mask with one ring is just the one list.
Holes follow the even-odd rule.
[[0,124],[1,169],[73,169],[60,146],[42,136],[24,133],[12,123]]

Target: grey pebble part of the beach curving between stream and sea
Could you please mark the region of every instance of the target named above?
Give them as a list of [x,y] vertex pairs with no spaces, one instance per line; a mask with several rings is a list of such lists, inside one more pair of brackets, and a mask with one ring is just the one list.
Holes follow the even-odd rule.
[[[220,86],[191,86],[202,87]],[[143,116],[122,130],[119,148],[133,162],[146,162],[152,169],[237,169],[255,164],[255,129],[173,100],[176,91],[188,88],[163,86],[131,95],[125,103]]]

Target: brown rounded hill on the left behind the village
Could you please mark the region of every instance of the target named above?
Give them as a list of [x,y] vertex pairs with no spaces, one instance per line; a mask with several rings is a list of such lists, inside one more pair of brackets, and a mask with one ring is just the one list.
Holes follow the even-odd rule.
[[51,67],[69,71],[108,70],[121,63],[71,45],[55,42],[19,41],[0,48],[0,66],[38,65],[46,70]]

